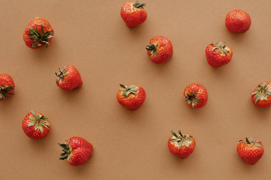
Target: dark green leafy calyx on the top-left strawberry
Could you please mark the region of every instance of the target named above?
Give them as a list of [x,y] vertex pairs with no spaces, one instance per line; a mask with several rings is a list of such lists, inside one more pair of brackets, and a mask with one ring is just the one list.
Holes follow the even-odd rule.
[[42,44],[46,44],[46,48],[47,48],[47,46],[49,44],[48,39],[53,37],[51,34],[54,31],[48,31],[48,32],[44,33],[43,26],[44,26],[44,24],[42,24],[42,26],[41,26],[41,32],[39,32],[38,28],[36,28],[36,30],[33,28],[29,29],[29,32],[30,32],[30,34],[28,34],[30,36],[29,39],[34,40],[34,42],[32,43],[33,48],[36,46],[41,46]]

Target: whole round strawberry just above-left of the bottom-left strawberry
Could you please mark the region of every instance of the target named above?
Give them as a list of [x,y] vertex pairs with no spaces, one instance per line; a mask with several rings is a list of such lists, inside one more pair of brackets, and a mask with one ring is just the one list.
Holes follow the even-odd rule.
[[22,121],[22,130],[29,138],[35,140],[45,138],[51,128],[47,119],[42,113],[31,111]]

